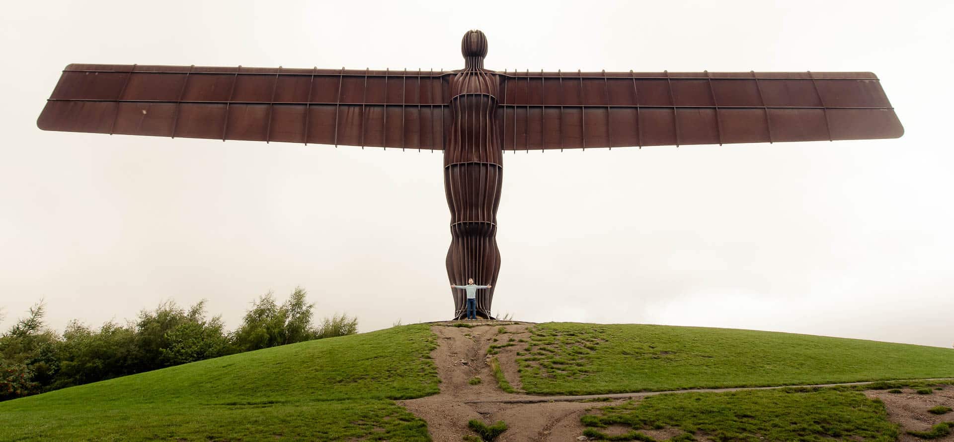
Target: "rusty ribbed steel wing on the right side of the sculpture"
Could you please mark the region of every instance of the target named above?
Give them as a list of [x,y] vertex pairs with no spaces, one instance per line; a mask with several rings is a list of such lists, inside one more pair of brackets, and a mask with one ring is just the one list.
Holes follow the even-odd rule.
[[[500,72],[499,72],[500,73]],[[897,138],[870,72],[503,72],[505,150]]]

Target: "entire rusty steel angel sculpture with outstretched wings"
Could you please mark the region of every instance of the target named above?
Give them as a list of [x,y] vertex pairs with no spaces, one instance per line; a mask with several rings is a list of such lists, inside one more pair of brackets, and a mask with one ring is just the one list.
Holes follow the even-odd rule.
[[[444,151],[447,276],[495,289],[503,153],[897,138],[870,72],[508,72],[69,65],[37,126],[175,138]],[[479,291],[490,317],[493,290]],[[454,317],[465,294],[453,290]]]

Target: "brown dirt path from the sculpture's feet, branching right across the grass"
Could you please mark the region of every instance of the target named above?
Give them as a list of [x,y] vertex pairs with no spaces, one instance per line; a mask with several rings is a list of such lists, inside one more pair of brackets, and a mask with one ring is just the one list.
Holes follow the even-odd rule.
[[[438,338],[438,347],[431,352],[441,378],[441,392],[419,399],[398,401],[408,411],[423,418],[431,437],[437,442],[460,441],[470,419],[483,420],[490,425],[498,420],[507,422],[508,431],[498,441],[575,441],[583,434],[580,417],[592,408],[619,404],[630,399],[639,399],[665,392],[632,392],[617,394],[593,394],[583,396],[537,396],[525,394],[517,372],[516,352],[523,352],[529,341],[529,323],[512,321],[474,321],[471,328],[458,326],[461,322],[434,323],[431,330]],[[523,341],[523,342],[521,342]],[[509,344],[509,345],[508,345]],[[496,349],[497,354],[487,355],[491,345],[507,346]],[[516,390],[504,392],[490,369],[490,358],[496,357],[508,383]],[[471,379],[480,382],[471,384]],[[949,381],[948,381],[949,383]],[[864,385],[867,382],[825,384],[804,387],[831,387],[836,385]],[[801,386],[799,386],[801,387]],[[764,390],[782,387],[745,389],[679,390],[674,392],[735,392],[738,390]],[[918,395],[913,391],[892,394],[883,391],[867,391],[869,397],[881,397],[892,422],[902,424],[902,432],[923,431],[942,420],[951,420],[951,415],[937,416],[927,409],[935,405],[952,406],[954,389]],[[592,402],[592,399],[609,398]],[[954,414],[954,413],[952,413]],[[659,434],[663,436],[663,434]],[[902,441],[920,440],[906,433]],[[936,439],[954,442],[954,435]]]

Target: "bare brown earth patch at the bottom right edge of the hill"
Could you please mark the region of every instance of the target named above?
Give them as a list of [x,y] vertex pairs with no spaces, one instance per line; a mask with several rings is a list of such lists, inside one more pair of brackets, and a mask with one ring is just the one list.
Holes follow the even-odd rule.
[[[954,387],[939,385],[944,390],[933,390],[931,394],[918,394],[916,389],[902,389],[901,393],[891,393],[885,390],[868,390],[864,392],[868,397],[878,397],[884,402],[891,422],[901,424],[901,442],[924,440],[912,436],[907,432],[924,432],[941,422],[954,422],[954,412],[932,414],[927,412],[939,405],[954,408]],[[938,439],[938,442],[954,442],[954,433]]]

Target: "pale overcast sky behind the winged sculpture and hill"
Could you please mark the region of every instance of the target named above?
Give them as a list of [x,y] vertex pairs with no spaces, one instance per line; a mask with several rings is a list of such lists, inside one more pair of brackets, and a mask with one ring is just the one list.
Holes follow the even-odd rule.
[[69,63],[873,71],[895,140],[509,153],[493,311],[954,343],[954,3],[12,2],[0,15],[0,308],[167,298],[235,327],[296,286],[361,331],[447,319],[442,154],[44,132]]

